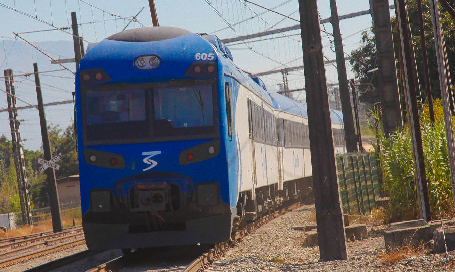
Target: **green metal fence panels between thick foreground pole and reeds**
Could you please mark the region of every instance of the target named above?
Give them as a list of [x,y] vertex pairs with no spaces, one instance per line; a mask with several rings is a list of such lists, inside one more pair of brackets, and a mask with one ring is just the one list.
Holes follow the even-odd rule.
[[336,155],[344,213],[369,214],[379,196],[379,167],[374,153]]

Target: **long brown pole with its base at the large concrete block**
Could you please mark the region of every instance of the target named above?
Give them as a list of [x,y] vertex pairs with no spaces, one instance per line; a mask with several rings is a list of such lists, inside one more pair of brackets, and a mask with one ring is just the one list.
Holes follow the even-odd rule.
[[[404,67],[404,85],[406,86],[404,94],[407,96],[408,123],[410,126],[411,143],[413,147],[413,159],[415,169],[415,179],[417,187],[417,196],[419,200],[420,217],[425,221],[431,221],[431,209],[428,195],[428,184],[425,172],[425,159],[422,147],[422,134],[420,132],[419,108],[417,106],[417,90],[414,78],[413,57],[411,51],[411,28],[404,0],[395,0],[397,10],[397,22],[400,26],[401,55],[403,57]],[[417,87],[418,84],[417,84]]]

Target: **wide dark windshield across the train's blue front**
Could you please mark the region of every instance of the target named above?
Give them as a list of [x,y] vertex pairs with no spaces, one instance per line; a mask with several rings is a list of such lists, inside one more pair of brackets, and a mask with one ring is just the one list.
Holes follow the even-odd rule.
[[95,141],[163,141],[216,134],[212,84],[86,90],[85,133]]

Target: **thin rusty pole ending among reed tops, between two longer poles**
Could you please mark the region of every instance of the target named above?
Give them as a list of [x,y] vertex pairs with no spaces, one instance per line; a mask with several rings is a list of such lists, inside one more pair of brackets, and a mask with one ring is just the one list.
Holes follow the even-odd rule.
[[417,13],[419,14],[420,44],[422,46],[424,82],[426,97],[428,99],[428,109],[430,112],[431,123],[435,123],[435,112],[433,111],[433,94],[431,93],[430,72],[428,68],[428,55],[426,52],[425,28],[423,24],[422,0],[417,0]]

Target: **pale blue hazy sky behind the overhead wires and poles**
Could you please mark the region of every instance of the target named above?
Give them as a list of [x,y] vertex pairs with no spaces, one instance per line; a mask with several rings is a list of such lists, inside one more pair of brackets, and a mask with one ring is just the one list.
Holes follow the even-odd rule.
[[[220,39],[247,35],[270,29],[283,28],[298,24],[299,12],[297,0],[255,0],[256,4],[274,9],[293,19],[248,3],[244,0],[155,0],[160,26],[173,26],[188,29],[196,33],[215,34]],[[338,14],[369,9],[369,0],[338,0]],[[320,18],[330,17],[329,0],[317,0]],[[393,0],[390,0],[393,4]],[[15,10],[13,10],[15,9]],[[43,53],[24,43],[26,39],[53,58],[72,58],[71,12],[76,12],[79,23],[79,35],[84,39],[85,47],[89,42],[99,42],[104,38],[127,29],[152,26],[147,0],[0,0],[0,70],[13,69],[15,75],[33,72],[33,62],[38,63],[40,71],[59,70],[42,73],[40,80],[44,103],[71,100],[74,91],[74,75],[63,67],[50,64],[50,59]],[[132,16],[137,22],[131,22]],[[392,14],[394,11],[391,11]],[[251,18],[252,19],[248,19]],[[295,20],[294,20],[295,19]],[[243,21],[241,23],[238,23]],[[237,24],[238,23],[238,24]],[[360,46],[361,32],[371,27],[371,16],[363,15],[340,21],[345,56]],[[56,28],[63,28],[56,30]],[[330,23],[324,24],[322,30],[333,33]],[[38,31],[38,32],[34,32]],[[13,32],[18,33],[15,37]],[[228,44],[234,62],[243,70],[259,73],[268,70],[282,69],[303,65],[300,30],[279,33],[262,37],[258,42]],[[21,38],[19,38],[21,37]],[[274,38],[274,39],[271,39]],[[335,59],[331,40],[333,37],[322,33],[324,55]],[[50,45],[49,41],[60,41],[59,45]],[[17,60],[20,61],[17,61]],[[10,60],[10,61],[8,61]],[[15,61],[13,61],[15,60]],[[347,64],[348,78],[354,75]],[[65,67],[75,71],[74,63]],[[3,72],[2,72],[3,76]],[[337,71],[332,65],[326,66],[328,83],[338,82]],[[283,83],[281,73],[262,77],[270,91],[278,91],[278,84]],[[17,76],[16,95],[23,101],[18,106],[36,104],[36,91],[33,77]],[[303,88],[303,71],[290,72],[289,88]],[[4,83],[0,83],[0,110],[6,108]],[[294,98],[305,102],[305,93],[296,92]],[[73,105],[48,106],[45,110],[48,125],[64,129],[71,124]],[[41,147],[41,132],[38,111],[36,109],[20,110],[19,117],[21,137],[26,149],[37,150]],[[0,135],[10,138],[8,114],[0,112]]]

